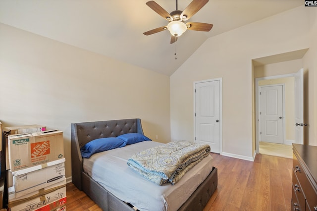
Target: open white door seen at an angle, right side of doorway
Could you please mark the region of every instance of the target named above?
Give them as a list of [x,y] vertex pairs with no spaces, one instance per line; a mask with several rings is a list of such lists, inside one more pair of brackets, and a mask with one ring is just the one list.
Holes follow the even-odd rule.
[[295,74],[295,143],[304,143],[304,70]]

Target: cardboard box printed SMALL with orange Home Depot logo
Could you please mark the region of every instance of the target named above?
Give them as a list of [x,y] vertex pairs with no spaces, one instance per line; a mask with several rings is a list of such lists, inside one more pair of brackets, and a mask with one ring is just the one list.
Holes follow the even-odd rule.
[[61,159],[64,157],[63,132],[9,135],[8,154],[11,172]]

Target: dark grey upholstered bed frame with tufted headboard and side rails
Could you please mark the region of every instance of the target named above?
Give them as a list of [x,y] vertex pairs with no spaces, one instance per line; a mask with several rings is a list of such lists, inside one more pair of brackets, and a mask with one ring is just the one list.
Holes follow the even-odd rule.
[[[143,134],[141,119],[120,119],[71,124],[72,182],[84,191],[103,211],[134,211],[129,205],[116,198],[83,171],[80,148],[86,143],[105,137],[117,137],[125,133]],[[178,211],[202,211],[217,188],[217,168],[195,190]]]

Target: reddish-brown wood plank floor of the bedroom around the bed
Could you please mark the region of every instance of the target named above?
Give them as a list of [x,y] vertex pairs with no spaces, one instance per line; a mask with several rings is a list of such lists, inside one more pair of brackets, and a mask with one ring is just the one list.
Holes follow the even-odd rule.
[[[218,187],[204,211],[291,210],[292,159],[257,154],[254,162],[211,154]],[[67,211],[101,211],[85,193],[67,184]]]

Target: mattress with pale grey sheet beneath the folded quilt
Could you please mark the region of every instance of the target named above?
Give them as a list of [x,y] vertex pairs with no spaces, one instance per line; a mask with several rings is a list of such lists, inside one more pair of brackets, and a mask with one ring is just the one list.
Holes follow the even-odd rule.
[[84,171],[114,196],[140,211],[176,211],[209,175],[212,158],[210,155],[204,158],[175,185],[159,186],[130,169],[127,160],[139,151],[160,144],[144,141],[97,153],[83,159]]

